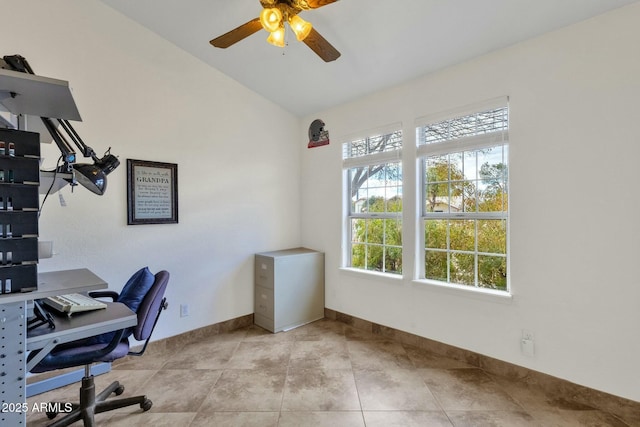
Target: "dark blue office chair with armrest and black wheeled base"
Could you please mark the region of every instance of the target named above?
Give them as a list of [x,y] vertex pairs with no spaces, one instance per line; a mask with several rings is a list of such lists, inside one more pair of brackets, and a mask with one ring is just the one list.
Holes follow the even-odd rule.
[[[120,395],[124,386],[118,381],[96,396],[91,364],[96,362],[112,362],[127,355],[141,356],[147,348],[151,333],[155,328],[162,310],[167,308],[164,292],[169,282],[169,273],[159,271],[153,275],[148,268],[136,272],[122,289],[120,294],[113,291],[91,292],[94,298],[111,298],[113,301],[126,304],[138,315],[138,324],[133,328],[102,334],[57,346],[46,355],[31,372],[47,372],[74,366],[85,367],[82,386],[80,387],[80,403],[72,404],[72,411],[49,427],[68,426],[82,419],[85,427],[95,426],[94,415],[125,406],[140,405],[143,411],[151,409],[152,402],[146,396],[135,396],[122,399],[106,400],[111,393]],[[142,350],[130,351],[129,336],[144,341]],[[37,352],[29,355],[29,359]],[[60,407],[64,407],[60,405]],[[49,419],[56,417],[57,412],[47,412]]]

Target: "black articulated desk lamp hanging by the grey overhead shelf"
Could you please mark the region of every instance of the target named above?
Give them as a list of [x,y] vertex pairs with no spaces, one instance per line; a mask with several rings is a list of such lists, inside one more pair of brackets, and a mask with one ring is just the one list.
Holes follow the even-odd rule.
[[[5,56],[3,59],[13,71],[35,74],[27,60],[20,55]],[[80,135],[78,135],[68,120],[56,119],[60,125],[60,127],[57,127],[52,119],[48,117],[41,117],[41,119],[62,153],[63,164],[56,168],[55,172],[71,173],[71,178],[65,179],[69,181],[72,186],[80,183],[89,191],[100,196],[103,195],[107,190],[107,175],[120,165],[118,158],[111,154],[111,147],[109,147],[102,158],[99,158],[95,151],[93,151],[93,148],[87,146],[82,141]],[[64,131],[64,133],[62,131]],[[76,163],[76,152],[71,144],[69,144],[68,139],[73,142],[84,157],[91,157],[93,164]]]

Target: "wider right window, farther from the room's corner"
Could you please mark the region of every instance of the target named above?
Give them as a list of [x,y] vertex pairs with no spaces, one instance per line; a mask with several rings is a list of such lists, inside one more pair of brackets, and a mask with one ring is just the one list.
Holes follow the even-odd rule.
[[502,100],[416,129],[421,278],[508,290],[508,128]]

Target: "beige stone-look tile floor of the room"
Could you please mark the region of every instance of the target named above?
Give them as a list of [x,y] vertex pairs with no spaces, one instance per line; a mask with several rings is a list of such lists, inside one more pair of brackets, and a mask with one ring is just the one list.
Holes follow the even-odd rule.
[[[123,396],[147,394],[153,407],[99,414],[99,426],[627,426],[328,319],[278,334],[250,326],[174,352],[150,349],[116,363],[96,388],[117,379]],[[77,388],[33,396],[29,406],[75,401]],[[49,422],[27,416],[30,427]]]

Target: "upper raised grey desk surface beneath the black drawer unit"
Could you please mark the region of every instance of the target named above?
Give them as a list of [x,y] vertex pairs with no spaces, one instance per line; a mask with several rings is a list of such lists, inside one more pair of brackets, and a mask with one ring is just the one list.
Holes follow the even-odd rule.
[[89,292],[107,287],[107,282],[86,268],[49,271],[38,273],[38,290],[0,295],[0,304],[29,301],[53,295]]

